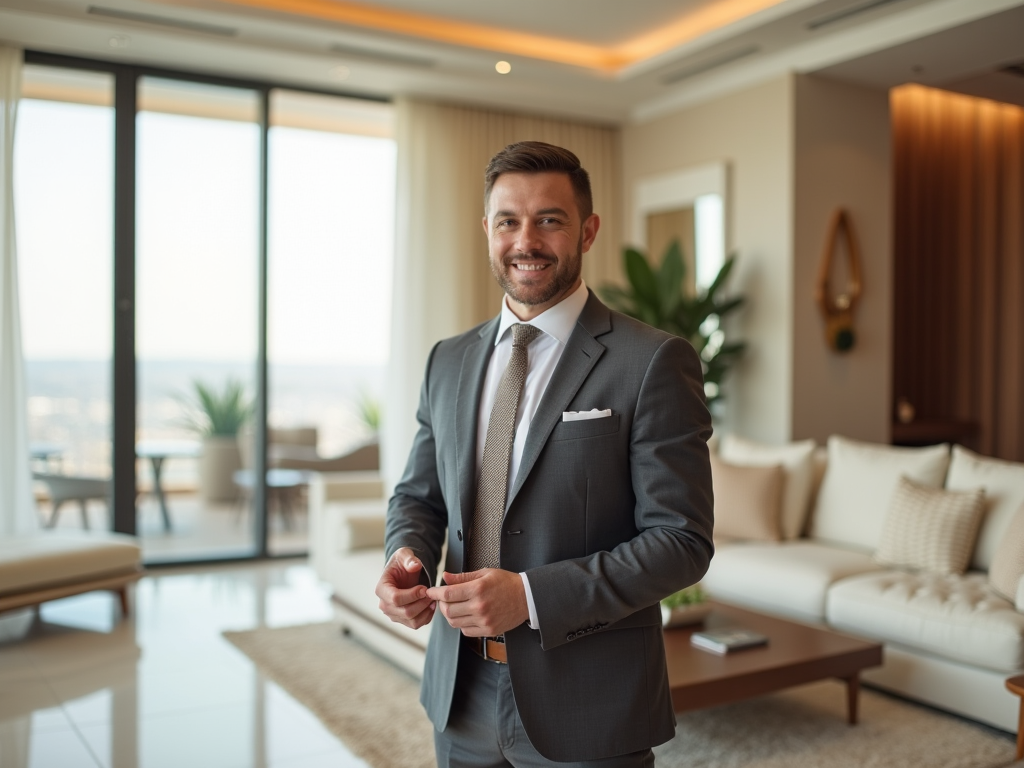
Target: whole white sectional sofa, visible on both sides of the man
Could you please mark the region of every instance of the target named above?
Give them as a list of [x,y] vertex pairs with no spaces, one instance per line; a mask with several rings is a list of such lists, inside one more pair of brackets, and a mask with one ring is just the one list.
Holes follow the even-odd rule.
[[[811,441],[765,446],[726,437],[719,457],[733,467],[777,467],[782,479],[777,541],[719,539],[716,523],[717,551],[702,582],[714,598],[882,641],[885,664],[865,674],[867,682],[1017,730],[1018,701],[1004,682],[1024,672],[1024,580],[1015,602],[992,589],[986,571],[1024,505],[1024,465],[959,446],[894,449],[840,437],[827,450]],[[966,573],[897,568],[874,558],[901,476],[926,487],[986,489]],[[731,484],[721,494],[716,487],[716,515],[735,534],[734,521],[719,510],[719,502],[737,503],[733,490],[745,483]],[[330,476],[314,481],[312,561],[334,589],[342,626],[421,675],[428,628],[388,622],[373,594],[384,564],[385,507],[384,499],[346,499]]]

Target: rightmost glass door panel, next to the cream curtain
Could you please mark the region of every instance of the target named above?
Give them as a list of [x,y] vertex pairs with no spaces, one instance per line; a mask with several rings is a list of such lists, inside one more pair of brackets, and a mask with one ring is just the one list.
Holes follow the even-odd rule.
[[[379,467],[388,358],[395,146],[389,104],[270,93],[269,461],[289,472]],[[292,475],[293,480],[299,480]],[[286,483],[287,484],[287,483]],[[287,492],[269,549],[307,549]]]

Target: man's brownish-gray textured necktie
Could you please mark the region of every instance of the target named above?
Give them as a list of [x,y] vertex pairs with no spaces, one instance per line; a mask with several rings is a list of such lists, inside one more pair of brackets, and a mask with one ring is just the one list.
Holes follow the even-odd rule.
[[495,392],[495,404],[487,422],[483,442],[483,461],[476,486],[476,509],[467,570],[499,567],[502,520],[508,497],[509,461],[515,439],[515,417],[526,383],[526,347],[541,334],[541,329],[516,323],[512,326],[512,355]]

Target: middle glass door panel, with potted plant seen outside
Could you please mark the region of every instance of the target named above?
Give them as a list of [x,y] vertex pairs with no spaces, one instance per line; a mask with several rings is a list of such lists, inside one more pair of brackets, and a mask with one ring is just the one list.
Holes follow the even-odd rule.
[[137,530],[151,561],[251,554],[260,93],[137,93]]

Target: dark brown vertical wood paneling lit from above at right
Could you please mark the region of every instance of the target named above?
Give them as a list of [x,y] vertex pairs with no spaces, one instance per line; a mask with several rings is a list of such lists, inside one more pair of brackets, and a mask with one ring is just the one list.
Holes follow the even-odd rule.
[[1024,461],[1024,110],[905,86],[892,115],[894,393]]

